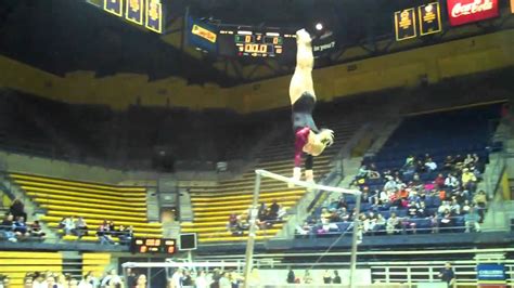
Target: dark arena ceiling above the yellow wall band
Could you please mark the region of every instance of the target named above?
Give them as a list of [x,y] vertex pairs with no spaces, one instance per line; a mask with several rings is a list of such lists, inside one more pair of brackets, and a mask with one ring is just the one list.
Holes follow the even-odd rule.
[[[101,0],[91,0],[101,1]],[[228,24],[298,28],[323,21],[338,43],[373,45],[394,41],[393,14],[426,0],[162,0],[167,27],[182,22],[187,8],[198,17]],[[176,24],[176,23],[175,23]],[[146,74],[151,79],[170,76],[190,83],[216,82],[228,87],[255,79],[234,70],[255,65],[255,60],[220,60],[194,56],[192,49],[164,36],[130,25],[86,3],[86,0],[2,0],[0,4],[0,54],[43,70],[64,75],[94,70],[99,77],[116,73]],[[368,48],[367,48],[368,49]],[[370,50],[370,56],[375,53]],[[196,53],[197,54],[197,53]],[[224,63],[222,63],[224,62]],[[331,61],[322,66],[334,65]],[[232,65],[232,74],[227,73]],[[291,64],[270,64],[270,76],[291,73]],[[237,68],[239,67],[239,68]]]

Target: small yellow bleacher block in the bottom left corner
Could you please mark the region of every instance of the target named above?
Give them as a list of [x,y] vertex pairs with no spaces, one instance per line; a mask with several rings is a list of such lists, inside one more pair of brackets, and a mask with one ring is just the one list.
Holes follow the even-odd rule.
[[0,251],[0,274],[10,278],[9,287],[24,287],[24,277],[27,272],[52,271],[61,273],[63,256],[60,252],[38,251]]

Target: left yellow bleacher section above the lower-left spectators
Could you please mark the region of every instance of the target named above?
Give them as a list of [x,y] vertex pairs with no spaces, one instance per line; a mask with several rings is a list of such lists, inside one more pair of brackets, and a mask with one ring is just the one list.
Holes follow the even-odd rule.
[[[104,220],[112,220],[116,225],[132,225],[136,237],[162,237],[162,224],[149,223],[146,219],[145,187],[20,173],[11,173],[10,178],[33,201],[46,210],[40,220],[51,228],[59,228],[59,222],[64,217],[82,217],[88,224],[89,234],[81,237],[81,240],[97,241],[97,228]],[[76,240],[77,236],[66,235],[63,239]]]

